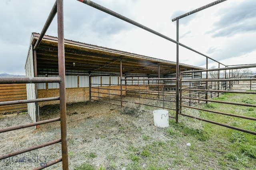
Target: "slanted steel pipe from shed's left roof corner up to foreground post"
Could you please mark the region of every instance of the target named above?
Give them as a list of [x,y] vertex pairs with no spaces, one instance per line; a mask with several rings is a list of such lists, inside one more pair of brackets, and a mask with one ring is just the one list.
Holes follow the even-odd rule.
[[38,40],[36,41],[36,44],[34,46],[34,50],[36,50],[38,48],[38,45],[42,41],[48,27],[50,26],[50,24],[52,23],[52,20],[54,19],[56,13],[57,13],[57,0],[55,1],[54,5],[52,7],[52,10],[51,10],[51,12],[50,12],[45,24],[44,24],[44,27],[43,27],[43,29],[42,29],[39,37],[38,37]]

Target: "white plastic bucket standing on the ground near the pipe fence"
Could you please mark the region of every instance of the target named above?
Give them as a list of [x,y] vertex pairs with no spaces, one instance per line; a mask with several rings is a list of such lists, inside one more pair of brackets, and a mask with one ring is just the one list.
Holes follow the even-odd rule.
[[158,109],[153,111],[154,125],[156,127],[168,127],[169,126],[169,115],[168,111],[164,109]]

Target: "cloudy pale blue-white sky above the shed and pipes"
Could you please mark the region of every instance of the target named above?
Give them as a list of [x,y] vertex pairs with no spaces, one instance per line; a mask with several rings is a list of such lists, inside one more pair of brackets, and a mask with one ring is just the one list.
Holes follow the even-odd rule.
[[[94,0],[176,40],[182,14],[215,0]],[[32,32],[40,33],[55,0],[0,1],[0,73],[25,75]],[[57,17],[46,35],[57,37]],[[77,0],[64,0],[64,37],[176,62],[176,44]],[[256,0],[227,0],[179,20],[179,42],[222,64],[256,63]],[[206,67],[206,58],[180,47],[180,63]],[[211,66],[218,63],[208,61]],[[223,67],[220,65],[220,67]],[[254,71],[254,70],[253,70]]]

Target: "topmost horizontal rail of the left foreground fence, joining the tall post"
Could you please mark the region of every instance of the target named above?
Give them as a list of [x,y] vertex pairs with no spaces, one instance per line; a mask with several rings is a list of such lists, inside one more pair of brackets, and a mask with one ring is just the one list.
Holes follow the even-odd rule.
[[60,77],[1,77],[0,84],[60,83]]

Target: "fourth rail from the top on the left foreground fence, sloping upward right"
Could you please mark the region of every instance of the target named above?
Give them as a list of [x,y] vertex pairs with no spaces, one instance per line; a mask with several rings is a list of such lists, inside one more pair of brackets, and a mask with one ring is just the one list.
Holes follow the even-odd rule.
[[47,147],[49,145],[53,145],[53,144],[60,143],[60,142],[61,142],[61,139],[58,139],[56,141],[50,141],[50,142],[47,142],[47,143],[44,143],[44,144],[41,144],[41,145],[36,145],[34,147],[29,147],[29,148],[25,148],[25,149],[22,149],[22,150],[18,150],[16,152],[12,152],[12,153],[0,156],[0,160],[5,159],[5,158],[9,158],[9,157],[12,157],[12,156],[15,156],[15,155],[18,155],[18,154],[22,154],[22,153],[25,153],[25,152],[29,152],[31,150],[39,149],[39,148],[42,148],[42,147]]

